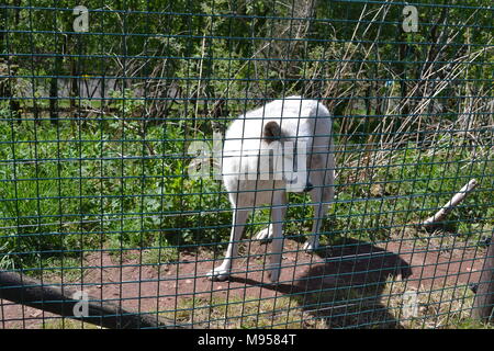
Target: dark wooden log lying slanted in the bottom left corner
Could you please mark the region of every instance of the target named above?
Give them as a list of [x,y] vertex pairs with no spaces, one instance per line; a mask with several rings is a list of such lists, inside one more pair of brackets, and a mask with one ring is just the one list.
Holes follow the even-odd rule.
[[65,287],[42,284],[41,281],[23,274],[0,271],[0,298],[3,299],[104,328],[178,328],[172,320],[158,318],[156,315],[132,313],[91,296],[88,296],[87,301],[87,316],[76,317],[74,310],[81,301],[74,299],[74,293],[75,291]]

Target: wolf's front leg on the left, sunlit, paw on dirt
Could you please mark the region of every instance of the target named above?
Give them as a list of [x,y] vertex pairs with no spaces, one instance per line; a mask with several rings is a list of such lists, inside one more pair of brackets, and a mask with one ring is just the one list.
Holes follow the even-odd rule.
[[238,241],[242,239],[245,224],[250,211],[234,208],[232,234],[229,236],[228,248],[226,249],[223,263],[207,273],[207,278],[213,281],[227,280],[233,268],[234,260],[238,256]]

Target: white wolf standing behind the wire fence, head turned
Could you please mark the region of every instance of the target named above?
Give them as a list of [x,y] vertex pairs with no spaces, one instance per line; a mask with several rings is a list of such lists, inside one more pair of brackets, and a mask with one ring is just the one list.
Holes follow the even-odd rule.
[[223,263],[207,275],[217,281],[229,276],[249,213],[269,204],[271,224],[256,238],[272,240],[267,272],[270,281],[277,282],[287,191],[311,193],[314,222],[304,245],[307,252],[318,247],[322,219],[333,201],[335,160],[328,110],[316,100],[289,97],[240,115],[226,132],[222,174],[232,203],[233,227]]

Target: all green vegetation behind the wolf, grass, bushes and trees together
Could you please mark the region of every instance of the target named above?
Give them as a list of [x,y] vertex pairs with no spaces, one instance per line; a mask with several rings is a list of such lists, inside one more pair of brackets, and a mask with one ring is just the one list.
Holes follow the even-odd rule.
[[[0,269],[49,267],[77,280],[94,250],[139,248],[150,265],[222,250],[227,195],[218,180],[188,176],[188,148],[212,147],[231,118],[291,94],[321,99],[334,113],[337,197],[323,244],[476,246],[492,233],[490,0],[420,1],[416,33],[401,29],[402,2],[78,4],[89,9],[88,32],[75,32],[71,1],[0,9]],[[416,226],[473,178],[480,186],[436,231]],[[302,241],[311,217],[310,197],[290,194],[287,236]],[[268,222],[269,208],[256,211],[247,235]],[[221,322],[250,308],[213,303],[218,308],[199,308],[199,319],[206,312]],[[269,319],[270,302],[254,302],[266,316],[234,324],[296,326],[305,303],[280,298],[277,306],[297,312]],[[454,317],[458,327],[475,326]],[[325,327],[321,320],[305,327]]]

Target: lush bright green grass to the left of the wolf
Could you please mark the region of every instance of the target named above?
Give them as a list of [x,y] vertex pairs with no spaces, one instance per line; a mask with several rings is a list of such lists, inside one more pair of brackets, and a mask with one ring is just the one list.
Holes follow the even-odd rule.
[[141,127],[0,123],[0,247],[10,253],[0,262],[30,265],[102,245],[218,241],[227,228],[215,227],[229,223],[229,214],[216,208],[228,202],[220,182],[183,174],[182,126],[149,127],[145,138]]

